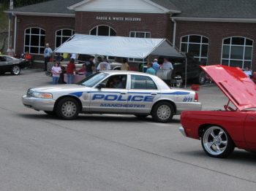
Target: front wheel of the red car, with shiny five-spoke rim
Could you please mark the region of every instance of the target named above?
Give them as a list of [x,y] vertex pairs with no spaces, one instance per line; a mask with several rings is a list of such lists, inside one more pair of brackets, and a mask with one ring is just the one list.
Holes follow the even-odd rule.
[[235,144],[227,131],[219,126],[209,126],[201,139],[203,150],[211,157],[227,157],[235,149]]

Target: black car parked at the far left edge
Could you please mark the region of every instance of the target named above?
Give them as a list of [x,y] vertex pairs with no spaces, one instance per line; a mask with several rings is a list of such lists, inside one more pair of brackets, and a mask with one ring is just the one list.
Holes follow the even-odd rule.
[[12,75],[20,74],[20,69],[26,68],[29,61],[24,59],[13,58],[9,55],[0,55],[0,74],[10,72]]

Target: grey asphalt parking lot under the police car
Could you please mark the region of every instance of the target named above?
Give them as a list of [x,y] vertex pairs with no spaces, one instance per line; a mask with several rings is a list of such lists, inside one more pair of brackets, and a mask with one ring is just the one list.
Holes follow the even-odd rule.
[[[255,190],[254,153],[208,157],[181,135],[179,115],[165,124],[113,114],[66,121],[23,106],[29,87],[50,84],[42,69],[0,76],[1,191]],[[197,93],[203,110],[227,104],[214,84]]]

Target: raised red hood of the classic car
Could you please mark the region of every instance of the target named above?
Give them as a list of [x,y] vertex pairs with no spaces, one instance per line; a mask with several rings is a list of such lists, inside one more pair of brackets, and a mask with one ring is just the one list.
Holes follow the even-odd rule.
[[238,67],[223,65],[200,67],[240,111],[256,108],[256,85],[244,71]]

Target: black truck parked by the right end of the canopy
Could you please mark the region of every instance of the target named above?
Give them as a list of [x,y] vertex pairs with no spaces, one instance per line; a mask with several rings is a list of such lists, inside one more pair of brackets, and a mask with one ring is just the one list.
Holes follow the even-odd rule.
[[[197,61],[189,53],[186,54],[186,57],[172,57],[172,56],[159,56],[158,63],[162,64],[164,58],[167,58],[170,63],[173,64],[173,72],[171,74],[172,79],[182,79],[183,82],[186,79],[186,63],[187,63],[187,80],[194,80],[195,84],[203,85],[206,81],[206,73],[200,69],[201,66],[206,66],[206,63]],[[186,62],[187,58],[187,62]],[[181,83],[177,83],[176,87],[180,87]]]

